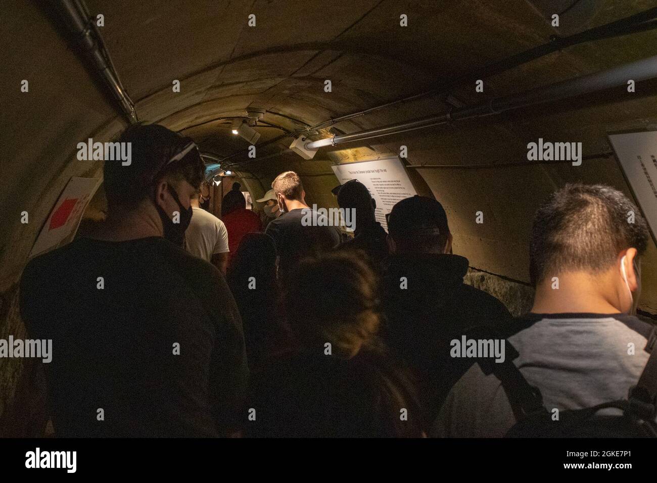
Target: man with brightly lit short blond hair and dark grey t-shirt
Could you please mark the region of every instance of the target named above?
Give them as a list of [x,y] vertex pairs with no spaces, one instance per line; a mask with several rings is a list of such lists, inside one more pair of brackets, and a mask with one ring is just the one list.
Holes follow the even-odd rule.
[[283,214],[267,225],[265,233],[274,239],[280,256],[279,272],[284,276],[304,256],[338,246],[340,233],[336,227],[328,226],[325,216],[307,206],[306,191],[297,173],[286,171],[279,174],[271,187]]

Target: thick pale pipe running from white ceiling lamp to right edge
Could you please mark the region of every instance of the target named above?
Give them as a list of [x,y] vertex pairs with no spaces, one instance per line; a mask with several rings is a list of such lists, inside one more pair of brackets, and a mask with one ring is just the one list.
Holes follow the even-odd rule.
[[575,97],[578,95],[604,91],[612,87],[627,85],[627,81],[635,82],[657,78],[657,56],[644,58],[635,62],[629,62],[621,66],[616,66],[595,74],[587,74],[574,79],[557,82],[545,87],[539,87],[520,94],[513,94],[497,99],[491,99],[485,103],[474,106],[466,106],[438,114],[428,116],[417,120],[392,124],[390,126],[376,127],[357,133],[342,134],[318,141],[306,143],[306,149],[316,150],[325,146],[333,146],[352,141],[363,141],[373,137],[387,136],[423,127],[438,126],[451,121],[460,121],[464,119],[489,116],[491,114],[500,114],[507,110],[517,109],[520,107],[533,106],[536,104],[551,103]]

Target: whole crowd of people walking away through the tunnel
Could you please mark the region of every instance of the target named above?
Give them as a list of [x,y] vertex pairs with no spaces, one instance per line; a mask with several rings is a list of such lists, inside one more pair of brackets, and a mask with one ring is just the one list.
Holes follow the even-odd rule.
[[464,283],[438,200],[401,200],[386,233],[348,181],[335,190],[356,214],[345,241],[304,221],[322,215],[306,216],[288,171],[258,200],[263,233],[237,183],[221,220],[201,207],[191,139],[138,124],[120,141],[133,158],[104,166],[104,223],[22,277],[28,331],[53,340],[57,436],[504,436],[514,398],[453,351],[481,327],[548,408],[622,399],[646,365],[652,327],[631,314],[648,229],[616,189],[566,185],[539,208],[535,300],[514,319]]

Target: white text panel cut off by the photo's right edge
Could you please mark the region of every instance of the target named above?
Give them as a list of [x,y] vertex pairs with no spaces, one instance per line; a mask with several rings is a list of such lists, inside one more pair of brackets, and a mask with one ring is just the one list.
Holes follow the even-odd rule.
[[616,151],[627,183],[652,231],[657,235],[657,131],[612,134],[609,141]]

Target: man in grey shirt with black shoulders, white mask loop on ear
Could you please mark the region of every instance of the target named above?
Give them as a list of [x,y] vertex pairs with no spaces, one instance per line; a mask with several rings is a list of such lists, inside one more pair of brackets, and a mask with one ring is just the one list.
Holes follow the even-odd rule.
[[[533,308],[507,340],[520,353],[512,363],[550,413],[622,400],[637,383],[651,327],[629,314],[639,300],[647,242],[637,207],[608,186],[566,185],[536,212]],[[509,400],[515,395],[509,398],[494,373],[474,364],[449,392],[434,434],[504,436],[516,423]]]

